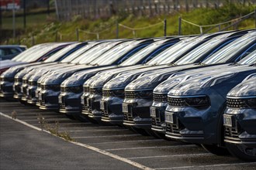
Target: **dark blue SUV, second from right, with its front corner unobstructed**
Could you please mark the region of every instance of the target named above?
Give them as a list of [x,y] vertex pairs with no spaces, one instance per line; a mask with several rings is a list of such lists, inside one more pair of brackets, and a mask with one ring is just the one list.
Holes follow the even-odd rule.
[[[252,52],[251,55],[255,58],[256,54]],[[242,66],[231,70],[223,68],[218,73],[206,73],[205,76],[172,88],[168,92],[168,107],[165,110],[166,137],[201,144],[216,155],[227,154],[223,148],[226,97],[244,78],[255,73],[255,63],[244,66],[246,62],[247,60],[243,61],[240,63]]]

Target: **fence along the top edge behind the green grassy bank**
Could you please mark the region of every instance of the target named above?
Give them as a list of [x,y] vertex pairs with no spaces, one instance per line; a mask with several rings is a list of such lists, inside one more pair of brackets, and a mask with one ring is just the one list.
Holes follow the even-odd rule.
[[75,15],[98,19],[120,13],[158,15],[192,8],[218,8],[224,3],[256,4],[256,0],[55,0],[57,17],[70,20]]

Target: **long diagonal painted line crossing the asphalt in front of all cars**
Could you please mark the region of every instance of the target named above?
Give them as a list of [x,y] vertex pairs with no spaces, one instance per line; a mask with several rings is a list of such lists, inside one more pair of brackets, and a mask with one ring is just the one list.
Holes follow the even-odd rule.
[[[2,116],[4,116],[4,117],[7,117],[7,118],[9,118],[9,119],[12,119],[12,117],[9,117],[8,115],[2,114],[1,112],[0,112],[0,115],[2,115]],[[37,131],[42,131],[40,128],[36,128],[36,127],[34,127],[33,125],[27,124],[25,121],[20,121],[19,119],[12,119],[12,120],[13,120],[13,121],[17,121],[17,122],[19,122],[19,123],[21,123],[21,124],[24,124],[24,125],[28,126],[29,128],[33,128],[33,129],[35,129],[35,130],[37,130]],[[45,130],[43,130],[43,131],[44,131],[44,132],[47,132],[48,134],[50,134],[49,131],[45,131]],[[52,134],[52,135],[54,135],[54,134]],[[54,136],[56,136],[56,135],[54,135]],[[56,137],[57,137],[57,136],[56,136]],[[60,138],[60,137],[58,137],[58,138]],[[61,139],[63,139],[63,138],[61,138]],[[64,140],[64,139],[63,139],[63,140]],[[80,142],[76,142],[76,141],[68,141],[68,142],[70,142],[70,143],[72,143],[72,144],[74,144],[74,145],[79,145],[79,146],[81,146],[81,147],[88,148],[88,149],[90,149],[90,150],[92,150],[92,151],[96,151],[96,152],[98,152],[98,153],[100,153],[100,154],[102,154],[102,155],[106,155],[106,156],[109,156],[109,157],[111,157],[111,158],[115,158],[115,159],[117,159],[117,160],[119,160],[119,161],[121,161],[121,162],[126,162],[127,164],[133,165],[134,167],[137,167],[137,168],[140,168],[140,169],[153,170],[153,168],[149,168],[149,167],[147,167],[147,166],[145,166],[145,165],[141,165],[141,164],[139,164],[139,163],[137,163],[137,162],[133,162],[133,161],[127,159],[127,158],[120,157],[119,155],[114,155],[114,154],[112,154],[112,153],[109,153],[108,151],[103,151],[102,149],[95,148],[95,147],[93,147],[93,146],[91,146],[91,145],[81,144]]]

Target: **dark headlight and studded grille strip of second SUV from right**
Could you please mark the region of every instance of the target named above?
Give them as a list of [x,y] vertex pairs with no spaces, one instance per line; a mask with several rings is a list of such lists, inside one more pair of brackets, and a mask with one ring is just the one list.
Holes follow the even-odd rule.
[[210,106],[210,100],[207,96],[168,97],[168,104],[175,107],[205,109]]

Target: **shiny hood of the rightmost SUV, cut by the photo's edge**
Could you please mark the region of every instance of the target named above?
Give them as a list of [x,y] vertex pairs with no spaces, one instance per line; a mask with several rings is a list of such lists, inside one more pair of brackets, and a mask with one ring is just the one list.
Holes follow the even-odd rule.
[[227,97],[252,97],[256,96],[256,73],[247,78],[227,93]]

